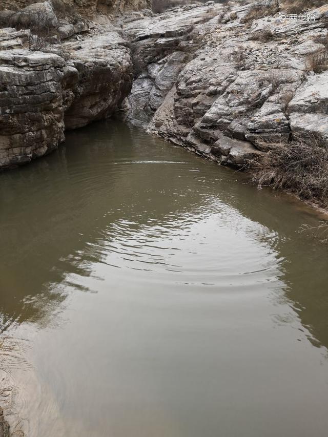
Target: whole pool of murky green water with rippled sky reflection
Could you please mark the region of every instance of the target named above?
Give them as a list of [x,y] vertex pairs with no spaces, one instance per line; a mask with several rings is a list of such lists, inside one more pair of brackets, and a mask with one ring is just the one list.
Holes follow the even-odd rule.
[[326,437],[328,245],[118,121],[0,175],[0,405],[30,437]]

